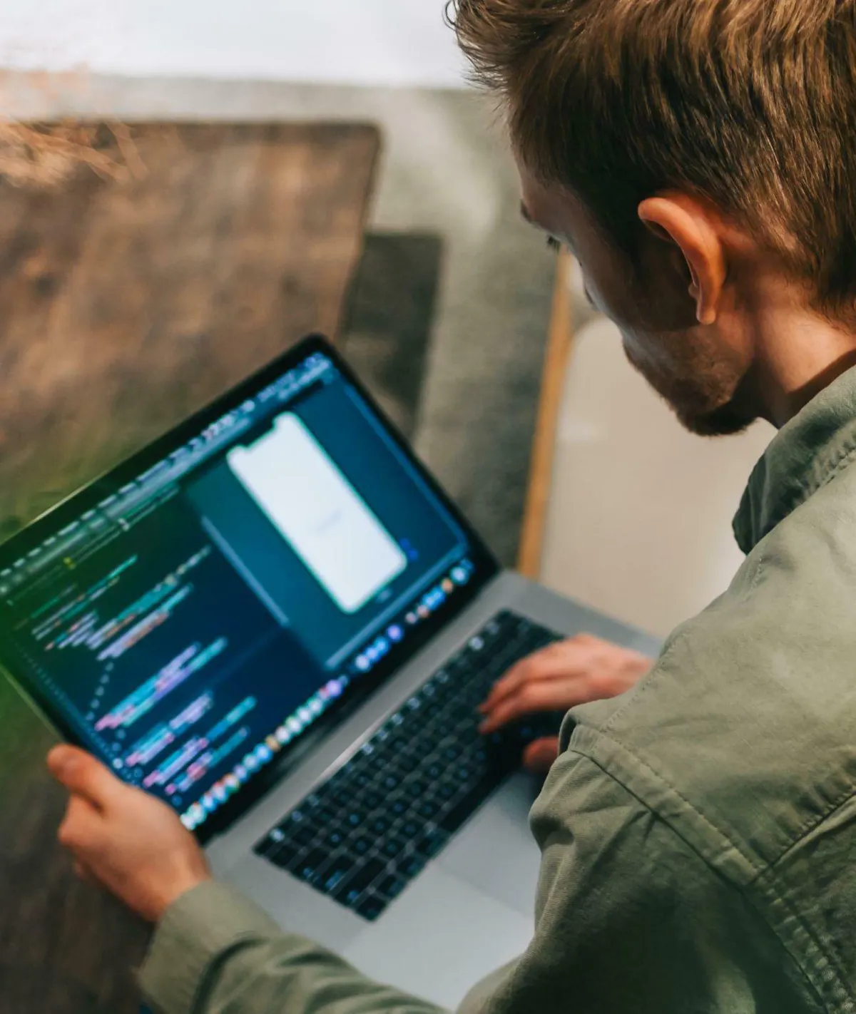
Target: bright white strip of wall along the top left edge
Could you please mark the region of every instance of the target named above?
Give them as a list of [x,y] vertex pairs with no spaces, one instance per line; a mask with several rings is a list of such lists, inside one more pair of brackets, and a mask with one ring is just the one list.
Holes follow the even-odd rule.
[[459,86],[444,0],[0,0],[0,66]]

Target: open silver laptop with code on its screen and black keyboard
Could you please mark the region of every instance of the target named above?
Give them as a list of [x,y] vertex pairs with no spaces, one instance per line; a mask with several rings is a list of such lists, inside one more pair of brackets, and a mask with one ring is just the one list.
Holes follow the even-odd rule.
[[446,1006],[533,932],[538,785],[476,708],[579,631],[657,647],[503,571],[320,337],[0,548],[0,664],[61,733]]

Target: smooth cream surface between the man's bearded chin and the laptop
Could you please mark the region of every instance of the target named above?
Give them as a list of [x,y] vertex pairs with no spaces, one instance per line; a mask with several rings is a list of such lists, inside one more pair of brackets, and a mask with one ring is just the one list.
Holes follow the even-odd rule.
[[[582,300],[578,273],[575,300]],[[685,432],[633,370],[618,329],[576,335],[559,419],[542,579],[665,637],[728,587],[731,532],[774,430],[716,440]]]

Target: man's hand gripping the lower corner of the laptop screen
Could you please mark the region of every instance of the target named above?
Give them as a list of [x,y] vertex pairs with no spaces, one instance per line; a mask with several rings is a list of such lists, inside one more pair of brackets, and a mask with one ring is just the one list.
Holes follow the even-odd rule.
[[165,803],[73,746],[51,750],[48,768],[71,793],[59,839],[79,875],[97,880],[153,923],[210,879],[196,839]]

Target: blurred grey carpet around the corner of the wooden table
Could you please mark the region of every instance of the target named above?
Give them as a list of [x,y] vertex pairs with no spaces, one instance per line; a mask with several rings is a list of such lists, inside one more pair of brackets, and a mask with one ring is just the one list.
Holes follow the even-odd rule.
[[[104,77],[74,91],[15,94],[10,85],[3,106],[31,117],[377,123],[384,156],[370,228],[387,238],[369,241],[349,354],[513,564],[555,266],[520,220],[516,172],[490,102],[462,90]],[[432,237],[441,237],[441,256]]]

